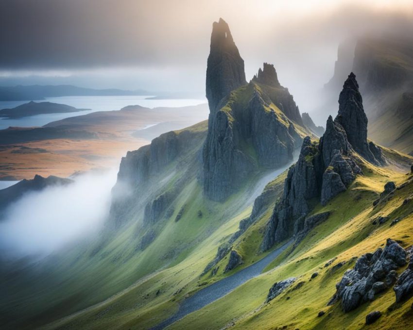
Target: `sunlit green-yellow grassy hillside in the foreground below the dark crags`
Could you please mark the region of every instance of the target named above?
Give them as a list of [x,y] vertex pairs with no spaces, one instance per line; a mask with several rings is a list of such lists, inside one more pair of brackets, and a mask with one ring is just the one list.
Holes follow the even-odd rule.
[[[286,250],[257,278],[187,315],[168,329],[222,329],[226,326],[235,329],[281,329],[284,326],[287,326],[284,329],[361,329],[364,327],[365,315],[373,310],[380,310],[383,316],[370,326],[371,329],[406,329],[413,320],[410,308],[412,301],[394,304],[395,295],[391,289],[380,294],[375,301],[365,303],[347,314],[341,311],[339,303],[327,307],[327,301],[335,293],[335,283],[341,279],[345,269],[354,266],[354,257],[382,247],[388,237],[397,240],[405,248],[413,245],[413,236],[410,234],[413,232],[413,204],[404,202],[413,197],[413,175],[406,174],[406,166],[412,162],[412,158],[390,149],[384,152],[390,159],[389,165],[379,168],[363,163],[363,176],[358,176],[347,191],[325,207],[318,205],[313,210],[313,213],[328,210],[331,216],[310,231],[295,249]],[[282,180],[279,177],[270,185],[277,185]],[[402,188],[396,190],[393,198],[373,208],[373,201],[390,180]],[[206,201],[202,200],[196,182],[189,184],[187,189],[179,204],[188,203],[190,196],[192,206],[188,214],[178,223],[174,222],[173,217],[168,220],[165,230],[152,247],[162,248],[160,242],[167,239],[168,245],[174,246],[170,244],[171,237],[176,237],[175,247],[184,244],[184,238],[179,233],[184,228],[189,237],[197,237],[196,246],[182,252],[167,268],[142,278],[102,303],[50,324],[49,329],[149,329],[174,314],[179,302],[195,291],[264,256],[258,255],[258,248],[262,227],[271,214],[273,204],[234,243],[244,264],[226,274],[219,271],[214,276],[210,273],[200,276],[206,264],[214,258],[217,247],[237,231],[241,219],[249,215],[251,206],[240,206],[240,200],[248,194],[247,188],[224,204],[204,204]],[[348,208],[349,203],[351,208]],[[198,219],[196,210],[201,205],[206,215]],[[220,212],[225,215],[220,219],[215,218]],[[389,215],[390,219],[382,225],[373,225],[373,219],[379,215]],[[390,226],[396,217],[401,217],[401,220]],[[211,225],[206,226],[204,220],[211,221]],[[207,235],[201,235],[201,231],[207,232]],[[325,266],[330,260],[333,261]],[[221,264],[224,266],[226,262],[224,259]],[[340,266],[340,263],[344,265]],[[220,266],[221,270],[223,266]],[[310,280],[314,272],[319,275]],[[274,282],[293,276],[298,279],[290,289],[270,303],[264,303]],[[320,311],[326,314],[318,317]]]

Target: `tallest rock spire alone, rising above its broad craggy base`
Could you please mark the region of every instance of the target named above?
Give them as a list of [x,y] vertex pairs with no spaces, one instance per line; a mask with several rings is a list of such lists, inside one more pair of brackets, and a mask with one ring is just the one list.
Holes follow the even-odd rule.
[[206,68],[206,98],[215,113],[219,102],[232,90],[246,84],[244,61],[232,39],[228,24],[220,18],[212,25]]

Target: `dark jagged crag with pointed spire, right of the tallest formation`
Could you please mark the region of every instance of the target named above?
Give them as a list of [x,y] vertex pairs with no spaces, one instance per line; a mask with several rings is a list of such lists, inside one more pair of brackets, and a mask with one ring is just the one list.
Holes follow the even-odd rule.
[[[344,82],[339,102],[339,114],[334,121],[328,117],[326,132],[319,143],[311,142],[310,137],[304,139],[299,159],[288,172],[284,196],[275,205],[267,224],[262,250],[302,231],[313,200],[326,205],[347,189],[356,175],[361,174],[356,151],[369,151],[359,153],[373,164],[384,162],[381,150],[367,144],[367,118],[353,73]],[[357,146],[356,150],[350,141]]]

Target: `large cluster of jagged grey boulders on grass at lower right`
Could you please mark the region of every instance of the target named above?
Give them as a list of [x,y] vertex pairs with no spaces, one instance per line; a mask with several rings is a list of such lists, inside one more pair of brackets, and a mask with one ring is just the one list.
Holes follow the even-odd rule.
[[328,305],[341,299],[342,310],[346,313],[365,301],[374,300],[377,294],[391,285],[395,270],[406,263],[404,248],[387,239],[384,249],[378,248],[374,253],[363,254],[354,268],[344,273]]

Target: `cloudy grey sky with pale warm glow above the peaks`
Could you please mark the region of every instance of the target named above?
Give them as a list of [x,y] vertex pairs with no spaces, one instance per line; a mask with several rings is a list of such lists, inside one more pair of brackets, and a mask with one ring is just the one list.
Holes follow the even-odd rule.
[[220,17],[247,79],[273,63],[301,111],[332,76],[341,41],[413,35],[411,0],[1,0],[0,85],[204,96],[212,22]]

